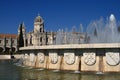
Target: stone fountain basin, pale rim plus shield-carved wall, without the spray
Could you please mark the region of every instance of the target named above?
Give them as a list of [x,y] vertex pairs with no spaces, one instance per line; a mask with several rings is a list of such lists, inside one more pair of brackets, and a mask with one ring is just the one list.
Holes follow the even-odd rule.
[[[100,43],[27,46],[21,47],[20,50],[23,54],[28,54],[26,63],[30,62],[31,53],[35,55],[34,65],[24,64],[35,68],[120,72],[119,48],[120,43]],[[43,57],[38,56],[38,53],[44,54]]]

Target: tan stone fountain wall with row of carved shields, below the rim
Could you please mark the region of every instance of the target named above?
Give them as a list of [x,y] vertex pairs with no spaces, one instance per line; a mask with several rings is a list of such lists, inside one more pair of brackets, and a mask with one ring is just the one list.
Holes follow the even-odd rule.
[[120,72],[120,62],[118,52],[105,52],[98,55],[96,52],[83,52],[76,55],[75,52],[43,52],[23,55],[23,64],[26,66],[52,69],[52,70],[72,70],[72,71],[92,71],[92,72]]

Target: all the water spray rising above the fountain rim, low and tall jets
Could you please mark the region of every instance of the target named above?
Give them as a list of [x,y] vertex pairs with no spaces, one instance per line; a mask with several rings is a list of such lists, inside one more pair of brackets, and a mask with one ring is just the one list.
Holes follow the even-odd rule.
[[71,32],[59,30],[56,34],[55,44],[81,44],[81,43],[118,43],[120,42],[120,31],[117,27],[116,18],[113,14],[107,18],[103,18],[91,22],[83,32],[82,24],[80,24],[80,32]]

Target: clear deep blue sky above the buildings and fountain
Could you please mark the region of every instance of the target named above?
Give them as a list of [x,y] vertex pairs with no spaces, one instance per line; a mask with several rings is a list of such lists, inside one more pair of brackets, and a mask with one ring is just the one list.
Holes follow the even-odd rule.
[[0,33],[17,34],[18,26],[25,23],[27,31],[33,30],[35,17],[44,19],[46,31],[73,26],[84,30],[101,16],[114,14],[120,20],[120,0],[0,0]]

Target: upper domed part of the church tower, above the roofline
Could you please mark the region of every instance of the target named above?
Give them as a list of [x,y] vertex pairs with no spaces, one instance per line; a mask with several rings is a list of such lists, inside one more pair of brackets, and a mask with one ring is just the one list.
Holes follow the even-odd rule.
[[34,33],[44,32],[44,21],[41,16],[37,16],[34,20]]

